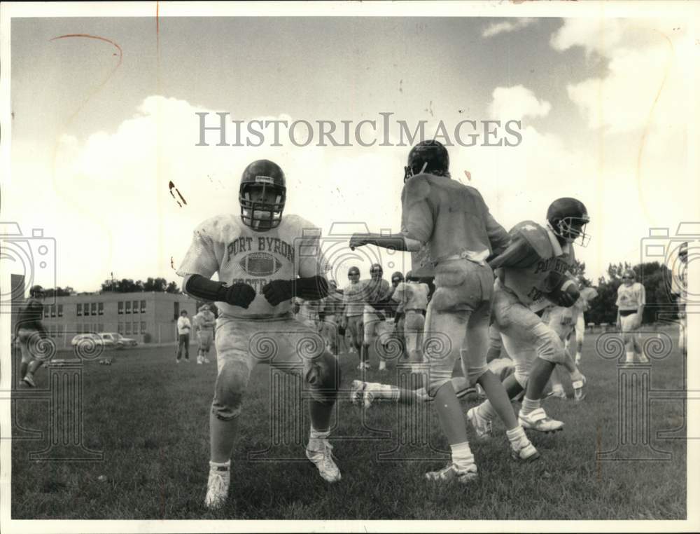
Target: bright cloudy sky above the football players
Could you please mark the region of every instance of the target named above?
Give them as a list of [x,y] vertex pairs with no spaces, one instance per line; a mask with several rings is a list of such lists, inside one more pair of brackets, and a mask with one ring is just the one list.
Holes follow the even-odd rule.
[[[76,34],[102,39],[55,39]],[[459,121],[521,121],[517,146],[449,147],[452,174],[506,228],[543,221],[554,198],[580,198],[592,239],[579,257],[596,278],[610,262],[639,261],[650,227],[699,220],[694,39],[681,16],[161,17],[158,33],[145,17],[15,18],[2,219],[55,238],[57,280],[38,275],[43,285],[92,291],[111,272],[175,280],[171,259],[178,266],[194,226],[239,211],[252,160],[279,163],[286,212],[326,234],[334,223],[398,231],[408,147],[379,146],[381,113],[412,130],[426,121],[426,137],[442,121],[452,142]],[[286,130],[282,146],[269,146],[272,135],[260,147],[216,146],[211,135],[196,146],[197,111],[244,128],[374,120],[379,133],[374,146],[316,146],[317,128],[308,146]],[[387,276],[410,267],[372,247],[332,251],[339,280],[351,263],[367,275],[377,257]]]

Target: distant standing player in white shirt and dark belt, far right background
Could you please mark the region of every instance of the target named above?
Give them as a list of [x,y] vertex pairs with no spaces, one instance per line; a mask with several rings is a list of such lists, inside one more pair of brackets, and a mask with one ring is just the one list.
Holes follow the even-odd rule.
[[642,326],[646,291],[644,286],[635,282],[634,271],[627,269],[622,275],[622,284],[617,288],[617,329],[622,332],[625,348],[625,363],[635,361],[647,363],[639,329]]

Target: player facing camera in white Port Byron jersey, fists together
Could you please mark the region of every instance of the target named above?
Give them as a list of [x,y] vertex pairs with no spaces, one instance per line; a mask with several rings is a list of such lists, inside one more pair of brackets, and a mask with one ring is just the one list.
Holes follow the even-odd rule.
[[[223,506],[228,495],[241,401],[259,362],[299,372],[310,386],[314,398],[309,402],[306,456],[323,479],[340,480],[328,442],[339,366],[325,347],[313,354],[297,352],[298,347],[309,345],[304,340],[314,340],[310,344],[319,347],[323,343],[316,340],[314,329],[291,313],[295,296],[318,300],[328,295],[328,266],[318,234],[304,233],[313,228],[311,223],[295,215],[282,216],[285,200],[285,177],[279,165],[253,161],[241,177],[240,214],[218,215],[197,226],[178,270],[187,294],[216,301],[219,310],[218,376],[209,414],[211,461],[204,502],[211,509]],[[214,273],[219,282],[210,280]],[[258,339],[260,335],[263,338]],[[290,366],[292,362],[297,365]]]

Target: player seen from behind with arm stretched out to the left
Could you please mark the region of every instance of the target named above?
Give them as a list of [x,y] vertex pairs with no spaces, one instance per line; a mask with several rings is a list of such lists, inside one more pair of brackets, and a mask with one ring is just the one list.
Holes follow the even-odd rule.
[[[486,259],[492,252],[502,252],[509,236],[493,219],[477,189],[451,179],[447,149],[439,142],[425,141],[411,149],[404,182],[402,231],[394,235],[355,234],[350,247],[376,245],[418,252],[427,245],[435,266],[435,293],[426,315],[423,359],[430,367],[427,390],[434,397],[451,448],[451,462],[442,470],[427,473],[426,478],[468,483],[477,478],[477,465],[461,404],[450,381],[458,357],[470,385],[479,383],[496,406],[513,456],[523,460],[539,456],[518,425],[503,385],[486,366],[493,293],[493,271]],[[438,343],[428,336],[435,336]],[[438,344],[444,351],[436,347]]]

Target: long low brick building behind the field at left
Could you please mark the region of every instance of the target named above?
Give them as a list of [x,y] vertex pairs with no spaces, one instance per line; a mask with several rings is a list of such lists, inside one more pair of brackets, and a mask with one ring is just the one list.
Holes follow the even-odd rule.
[[190,320],[197,313],[195,299],[173,293],[107,292],[48,300],[42,322],[59,347],[88,332],[118,332],[139,343],[174,343],[180,312],[187,310]]

